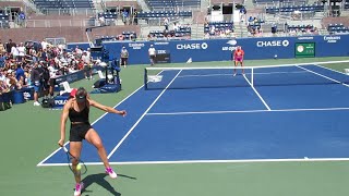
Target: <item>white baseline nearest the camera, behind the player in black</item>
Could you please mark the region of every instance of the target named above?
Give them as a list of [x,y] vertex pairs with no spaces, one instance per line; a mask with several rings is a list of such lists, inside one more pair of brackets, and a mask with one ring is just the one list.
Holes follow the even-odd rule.
[[[302,159],[238,159],[238,160],[178,160],[178,161],[130,161],[109,162],[110,164],[186,164],[186,163],[253,163],[253,162],[325,162],[325,161],[349,161],[349,158],[302,158]],[[86,166],[101,166],[103,162],[85,162]],[[45,163],[43,167],[62,167],[68,163]]]

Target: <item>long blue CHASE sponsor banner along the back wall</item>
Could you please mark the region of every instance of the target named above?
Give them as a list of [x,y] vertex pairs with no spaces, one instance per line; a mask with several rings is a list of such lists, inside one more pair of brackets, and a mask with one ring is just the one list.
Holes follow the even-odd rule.
[[[170,62],[227,61],[231,60],[232,51],[241,46],[245,51],[244,59],[262,60],[291,59],[296,56],[297,42],[314,42],[315,57],[349,56],[349,35],[332,36],[301,36],[301,37],[261,37],[237,39],[207,39],[207,40],[171,40],[171,41],[112,41],[104,42],[109,51],[110,59],[120,58],[124,46],[130,54],[129,64],[148,64],[148,49],[151,45],[159,54],[170,54]],[[86,45],[86,44],[85,44]],[[71,45],[75,47],[76,44]]]

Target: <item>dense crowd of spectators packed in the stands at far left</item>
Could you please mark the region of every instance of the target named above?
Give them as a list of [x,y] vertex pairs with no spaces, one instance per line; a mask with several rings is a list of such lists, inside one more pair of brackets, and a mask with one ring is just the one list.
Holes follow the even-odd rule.
[[34,87],[34,106],[40,106],[39,95],[53,96],[56,77],[96,63],[98,61],[92,61],[88,49],[84,51],[77,46],[68,51],[63,45],[53,46],[46,40],[20,44],[11,39],[5,44],[0,40],[0,94]]

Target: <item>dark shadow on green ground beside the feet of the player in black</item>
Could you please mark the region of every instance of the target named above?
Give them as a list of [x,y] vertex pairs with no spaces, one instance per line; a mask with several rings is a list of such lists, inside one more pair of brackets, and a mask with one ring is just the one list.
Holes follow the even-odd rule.
[[[108,181],[106,181],[107,174],[106,173],[98,173],[98,174],[91,174],[87,175],[83,182],[84,182],[84,189],[83,193],[85,193],[85,196],[88,196],[88,193],[91,193],[92,191],[88,191],[88,186],[91,186],[92,184],[96,183],[99,186],[104,187],[105,189],[107,189],[108,192],[110,192],[112,195],[115,196],[121,196],[121,193],[117,192],[110,184]],[[133,176],[128,176],[128,175],[123,175],[123,174],[118,174],[118,177],[127,177],[127,179],[132,179],[132,180],[136,180],[136,177]]]

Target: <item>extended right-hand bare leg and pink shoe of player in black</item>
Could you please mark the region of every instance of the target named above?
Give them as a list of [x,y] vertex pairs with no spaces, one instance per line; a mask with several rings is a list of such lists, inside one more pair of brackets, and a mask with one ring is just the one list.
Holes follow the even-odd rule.
[[85,139],[97,148],[98,155],[103,163],[105,164],[106,172],[109,174],[110,177],[116,179],[117,174],[110,168],[108,157],[107,157],[107,151],[101,143],[101,139],[98,133],[94,128],[89,128],[85,135]]

